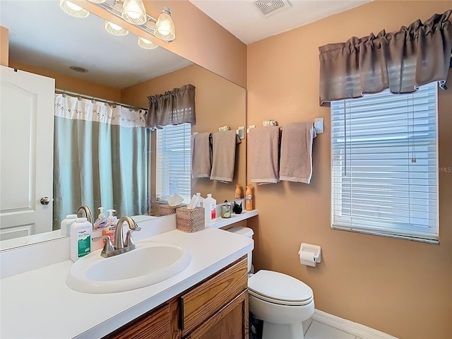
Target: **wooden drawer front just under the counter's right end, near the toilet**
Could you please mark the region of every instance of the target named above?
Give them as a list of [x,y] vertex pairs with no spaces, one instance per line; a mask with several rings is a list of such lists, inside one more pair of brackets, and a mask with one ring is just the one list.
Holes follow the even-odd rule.
[[242,258],[222,273],[181,297],[182,335],[215,314],[218,309],[234,299],[248,287],[248,263]]

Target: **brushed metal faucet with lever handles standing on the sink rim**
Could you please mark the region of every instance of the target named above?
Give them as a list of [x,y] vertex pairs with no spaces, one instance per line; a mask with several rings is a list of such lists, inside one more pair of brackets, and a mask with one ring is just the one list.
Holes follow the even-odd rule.
[[[123,240],[122,229],[124,227],[124,223],[129,226],[129,230],[127,230],[126,240]],[[125,216],[119,219],[116,227],[116,231],[114,232],[114,242],[110,241],[110,238],[106,235],[102,235],[102,237],[93,238],[93,242],[97,242],[101,239],[105,239],[104,249],[100,253],[104,258],[108,258],[109,256],[117,256],[118,254],[126,253],[135,249],[136,246],[133,243],[132,232],[140,231],[141,227],[138,227],[132,218],[129,216]]]

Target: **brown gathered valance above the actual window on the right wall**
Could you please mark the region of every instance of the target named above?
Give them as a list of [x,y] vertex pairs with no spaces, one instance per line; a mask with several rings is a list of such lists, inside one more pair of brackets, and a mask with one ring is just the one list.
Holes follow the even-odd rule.
[[414,92],[420,85],[446,81],[451,60],[452,10],[416,20],[398,32],[352,37],[320,51],[320,105],[362,97],[389,88]]

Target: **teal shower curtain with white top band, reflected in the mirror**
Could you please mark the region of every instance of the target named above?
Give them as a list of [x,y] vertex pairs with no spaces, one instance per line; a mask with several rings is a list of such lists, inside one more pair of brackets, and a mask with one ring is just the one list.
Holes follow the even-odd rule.
[[82,205],[148,214],[145,110],[56,94],[54,114],[54,230]]

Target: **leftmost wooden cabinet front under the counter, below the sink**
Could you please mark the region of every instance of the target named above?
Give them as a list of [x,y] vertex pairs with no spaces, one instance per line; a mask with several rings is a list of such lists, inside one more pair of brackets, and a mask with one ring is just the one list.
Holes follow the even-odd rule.
[[150,311],[135,321],[127,323],[104,339],[171,339],[172,322],[169,304]]

